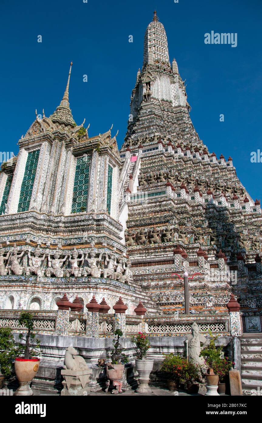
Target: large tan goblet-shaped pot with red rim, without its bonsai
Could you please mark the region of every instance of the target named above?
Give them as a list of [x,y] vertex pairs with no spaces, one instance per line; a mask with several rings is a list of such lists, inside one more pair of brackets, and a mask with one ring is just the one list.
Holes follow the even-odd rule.
[[14,395],[21,396],[30,396],[33,395],[33,391],[30,388],[30,383],[34,379],[38,368],[39,368],[40,358],[30,358],[26,359],[23,357],[15,358],[15,372],[16,377],[19,380],[20,386],[14,393]]

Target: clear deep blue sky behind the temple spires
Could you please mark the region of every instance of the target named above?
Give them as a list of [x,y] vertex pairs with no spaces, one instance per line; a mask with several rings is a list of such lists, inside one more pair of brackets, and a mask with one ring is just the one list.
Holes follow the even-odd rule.
[[[252,198],[262,199],[262,163],[250,162],[251,151],[262,151],[261,0],[1,0],[1,151],[17,154],[17,141],[35,119],[35,108],[38,113],[44,108],[48,116],[54,112],[71,60],[75,121],[86,118],[89,136],[113,123],[121,146],[154,8],[167,32],[170,60],[176,58],[186,78],[200,138],[218,156],[230,155]],[[237,47],[206,45],[204,34],[212,30],[237,33]]]

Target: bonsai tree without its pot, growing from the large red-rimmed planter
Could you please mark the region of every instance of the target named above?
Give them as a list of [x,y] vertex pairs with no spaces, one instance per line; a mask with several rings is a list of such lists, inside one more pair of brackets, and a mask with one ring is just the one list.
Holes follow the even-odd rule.
[[32,339],[35,338],[35,333],[32,332],[34,329],[33,325],[33,316],[31,313],[27,311],[20,314],[19,317],[19,324],[27,328],[27,334],[25,340],[23,339],[24,334],[20,333],[19,338],[25,341],[25,345],[22,344],[21,347],[24,350],[24,358],[26,360],[30,360],[35,354],[38,354],[39,351],[35,350],[34,347],[39,349],[40,341],[36,339],[34,342]]

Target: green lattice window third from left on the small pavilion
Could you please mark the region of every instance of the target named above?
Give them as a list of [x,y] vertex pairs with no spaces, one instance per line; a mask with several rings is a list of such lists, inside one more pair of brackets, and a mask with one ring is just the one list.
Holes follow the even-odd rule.
[[71,213],[86,211],[91,156],[78,157]]

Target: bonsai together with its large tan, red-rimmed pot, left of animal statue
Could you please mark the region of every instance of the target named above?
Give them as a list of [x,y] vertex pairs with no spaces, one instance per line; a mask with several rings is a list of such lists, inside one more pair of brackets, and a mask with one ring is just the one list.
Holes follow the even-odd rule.
[[[15,372],[16,377],[19,380],[20,386],[14,393],[14,395],[24,396],[24,395],[33,395],[33,391],[30,387],[32,379],[39,368],[40,358],[35,357],[35,354],[38,354],[34,350],[35,346],[39,346],[40,341],[36,340],[35,342],[32,339],[35,338],[33,330],[33,319],[32,314],[28,312],[21,313],[19,317],[19,325],[27,328],[27,334],[25,337],[25,344],[21,344],[22,349],[24,350],[24,355],[22,357],[15,358]],[[23,339],[23,334],[19,334],[19,338]]]

